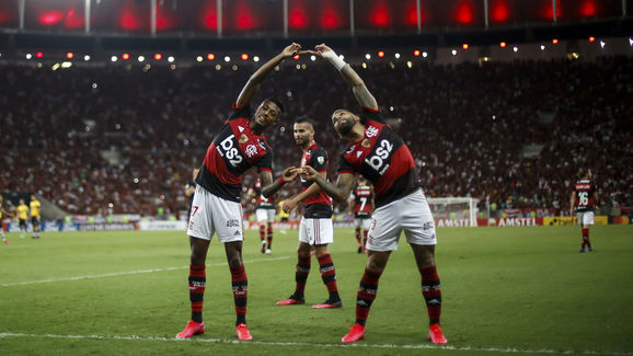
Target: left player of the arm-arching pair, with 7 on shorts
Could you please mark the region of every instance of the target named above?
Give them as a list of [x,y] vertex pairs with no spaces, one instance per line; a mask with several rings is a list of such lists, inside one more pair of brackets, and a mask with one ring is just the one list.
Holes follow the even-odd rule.
[[274,68],[286,58],[297,55],[300,49],[301,46],[295,43],[287,46],[251,76],[233,104],[233,112],[209,145],[204,163],[196,176],[196,190],[187,229],[191,244],[188,283],[192,320],[176,335],[177,338],[187,338],[205,332],[203,323],[203,299],[206,287],[205,261],[215,233],[225,244],[231,272],[238,338],[253,338],[246,326],[249,283],[242,263],[244,240],[240,205],[242,175],[250,168],[257,166],[260,180],[264,186],[262,193],[266,196],[272,194],[271,190],[278,190],[285,182],[284,180],[291,181],[294,176],[292,173],[286,172],[286,176],[273,183],[273,151],[263,136],[266,128],[277,123],[284,106],[277,99],[266,99],[255,110],[255,114],[251,115],[250,105],[262,82]]

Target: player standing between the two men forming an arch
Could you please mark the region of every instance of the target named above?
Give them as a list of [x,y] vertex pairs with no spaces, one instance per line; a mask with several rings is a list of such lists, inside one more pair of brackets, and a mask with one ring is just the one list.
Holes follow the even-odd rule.
[[[303,151],[301,166],[311,166],[323,180],[326,180],[327,153],[321,145],[314,141],[314,127],[308,118],[298,118],[294,125],[295,142]],[[301,180],[301,193],[284,202],[285,211],[292,210],[300,202],[306,204],[306,211],[299,225],[299,248],[297,255],[299,262],[295,269],[297,282],[295,292],[277,306],[303,305],[306,302],[303,291],[310,274],[310,251],[314,248],[314,254],[319,260],[321,279],[327,287],[330,297],[314,309],[341,308],[341,297],[336,287],[336,271],[332,256],[327,251],[327,244],[334,242],[334,229],[332,226],[332,199],[321,191],[313,182]]]

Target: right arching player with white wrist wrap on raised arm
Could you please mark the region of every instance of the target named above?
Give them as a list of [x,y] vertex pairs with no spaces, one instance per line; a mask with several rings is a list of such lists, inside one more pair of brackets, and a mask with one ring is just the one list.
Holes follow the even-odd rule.
[[356,71],[324,44],[312,53],[339,71],[362,111],[360,115],[348,110],[332,114],[334,129],[348,141],[341,157],[336,185],[311,166],[302,168],[300,174],[341,204],[345,204],[352,192],[355,172],[372,182],[376,190],[376,210],[367,240],[368,261],[356,296],[356,323],[342,341],[354,343],[365,337],[365,324],[380,276],[404,230],[422,276],[422,295],[429,317],[428,337],[435,344],[446,344],[439,325],[441,290],[435,266],[435,223],[411,151],[379,114],[376,99]]

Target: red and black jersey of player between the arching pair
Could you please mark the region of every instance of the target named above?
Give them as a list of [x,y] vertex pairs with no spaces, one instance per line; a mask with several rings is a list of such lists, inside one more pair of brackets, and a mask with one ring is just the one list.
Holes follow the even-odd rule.
[[[316,142],[312,142],[312,146],[301,157],[301,166],[310,165],[319,173],[326,172],[327,164],[327,152]],[[306,192],[312,183],[301,179],[301,192]],[[318,194],[308,197],[303,203],[306,204],[303,217],[311,219],[332,217],[332,198],[325,192],[319,191]]]

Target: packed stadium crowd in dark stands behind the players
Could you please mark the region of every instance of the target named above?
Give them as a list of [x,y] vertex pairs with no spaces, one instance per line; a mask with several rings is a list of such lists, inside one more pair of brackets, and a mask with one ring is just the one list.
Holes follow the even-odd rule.
[[[251,68],[141,68],[1,64],[0,190],[38,193],[69,214],[186,210],[192,169]],[[600,206],[633,206],[629,58],[356,68],[410,145],[429,196],[564,214],[575,173],[587,166]],[[335,180],[344,145],[330,116],[356,103],[341,95],[344,82],[322,80],[333,76],[324,64],[289,61],[262,88],[261,97],[286,106],[279,127],[266,133],[276,175],[299,164],[292,120],[310,116]],[[246,176],[245,187],[252,184]]]

